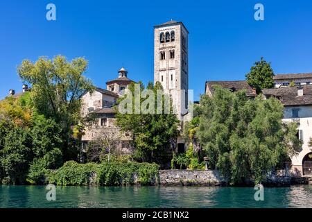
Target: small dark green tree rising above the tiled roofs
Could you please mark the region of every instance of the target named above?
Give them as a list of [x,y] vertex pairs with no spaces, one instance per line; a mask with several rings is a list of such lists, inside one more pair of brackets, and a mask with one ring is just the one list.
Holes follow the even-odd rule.
[[256,89],[257,94],[261,92],[261,89],[274,87],[273,70],[270,62],[263,60],[263,57],[261,57],[260,61],[254,63],[250,73],[245,76],[247,83]]

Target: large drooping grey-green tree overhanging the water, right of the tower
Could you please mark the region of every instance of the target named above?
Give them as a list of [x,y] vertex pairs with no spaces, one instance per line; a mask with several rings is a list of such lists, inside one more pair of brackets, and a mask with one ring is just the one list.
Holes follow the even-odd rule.
[[198,137],[209,164],[234,184],[266,173],[300,150],[294,123],[281,121],[284,106],[277,99],[253,101],[244,91],[216,87],[214,96],[200,98]]

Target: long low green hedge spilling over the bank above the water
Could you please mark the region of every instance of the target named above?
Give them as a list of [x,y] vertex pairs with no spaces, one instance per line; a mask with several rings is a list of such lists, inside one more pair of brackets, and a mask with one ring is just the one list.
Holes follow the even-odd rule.
[[[49,182],[56,185],[153,185],[158,176],[157,164],[138,162],[104,162],[78,164],[66,162],[63,167],[49,173]],[[96,176],[96,177],[95,177]],[[95,179],[96,178],[96,179]]]

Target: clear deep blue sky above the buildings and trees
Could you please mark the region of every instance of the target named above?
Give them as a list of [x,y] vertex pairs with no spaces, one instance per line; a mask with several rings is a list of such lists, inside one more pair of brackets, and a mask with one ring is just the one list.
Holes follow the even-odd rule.
[[[46,20],[54,3],[57,20]],[[263,3],[265,20],[254,20]],[[189,30],[189,88],[195,99],[206,80],[243,80],[263,56],[275,74],[312,72],[312,1],[71,1],[0,3],[0,99],[21,91],[17,66],[62,54],[89,60],[98,87],[124,66],[129,77],[153,80],[153,26],[169,20]]]

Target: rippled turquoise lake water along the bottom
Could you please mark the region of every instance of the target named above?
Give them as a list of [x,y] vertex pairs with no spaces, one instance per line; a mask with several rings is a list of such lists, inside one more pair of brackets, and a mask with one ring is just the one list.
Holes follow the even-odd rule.
[[0,207],[312,207],[312,186],[252,187],[56,187],[46,200],[44,186],[0,186]]

